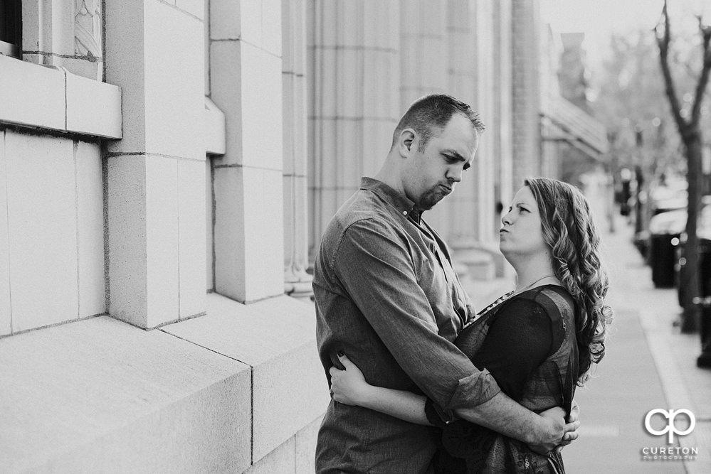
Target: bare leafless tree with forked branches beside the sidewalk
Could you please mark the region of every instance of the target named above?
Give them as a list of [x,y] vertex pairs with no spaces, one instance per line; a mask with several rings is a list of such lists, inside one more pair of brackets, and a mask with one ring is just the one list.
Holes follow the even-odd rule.
[[683,110],[676,94],[674,78],[669,67],[669,47],[671,31],[667,1],[664,1],[662,16],[655,27],[655,36],[659,46],[659,58],[665,82],[665,93],[669,99],[674,121],[679,129],[679,134],[684,144],[685,155],[688,163],[687,180],[688,210],[686,222],[687,241],[685,246],[686,271],[680,284],[685,286],[684,311],[681,321],[683,332],[696,330],[698,308],[693,304],[693,299],[699,296],[699,242],[696,234],[697,218],[701,207],[702,191],[702,133],[700,126],[701,104],[704,99],[706,85],[709,82],[711,71],[711,26],[705,26],[702,17],[697,16],[699,33],[702,38],[702,66],[696,82],[694,96],[690,111]]

